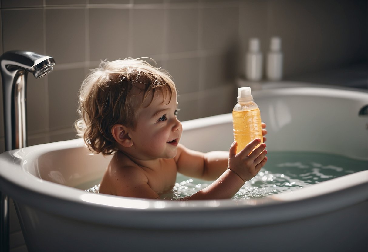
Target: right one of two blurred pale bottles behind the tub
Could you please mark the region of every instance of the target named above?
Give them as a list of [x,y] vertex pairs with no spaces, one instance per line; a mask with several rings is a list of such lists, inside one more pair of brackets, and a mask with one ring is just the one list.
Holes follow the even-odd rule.
[[270,42],[270,51],[267,55],[267,79],[277,81],[282,79],[283,54],[281,52],[281,39],[272,37]]

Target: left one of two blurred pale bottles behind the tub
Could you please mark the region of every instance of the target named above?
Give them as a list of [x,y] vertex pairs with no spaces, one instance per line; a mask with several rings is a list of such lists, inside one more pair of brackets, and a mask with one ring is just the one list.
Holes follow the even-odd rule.
[[262,53],[257,38],[249,40],[249,51],[245,55],[245,77],[251,81],[262,79]]

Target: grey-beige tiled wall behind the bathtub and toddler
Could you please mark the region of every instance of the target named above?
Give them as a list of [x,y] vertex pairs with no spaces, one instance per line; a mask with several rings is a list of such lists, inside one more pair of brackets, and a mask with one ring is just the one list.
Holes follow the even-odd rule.
[[[282,38],[290,79],[367,62],[367,12],[367,0],[1,0],[0,53],[56,60],[45,78],[28,76],[34,145],[75,137],[78,89],[101,59],[155,59],[178,86],[180,120],[223,114],[236,103],[250,37],[263,53],[271,36]],[[2,115],[0,108],[0,152]]]

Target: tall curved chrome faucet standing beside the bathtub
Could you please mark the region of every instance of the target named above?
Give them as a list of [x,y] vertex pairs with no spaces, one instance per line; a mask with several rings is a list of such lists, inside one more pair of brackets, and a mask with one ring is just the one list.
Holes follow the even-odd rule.
[[[52,57],[29,51],[8,51],[0,57],[0,72],[3,81],[5,150],[14,150],[27,145],[26,132],[26,84],[28,72],[36,79],[53,70]],[[0,169],[4,169],[1,168]],[[1,196],[0,251],[9,251],[9,199]]]

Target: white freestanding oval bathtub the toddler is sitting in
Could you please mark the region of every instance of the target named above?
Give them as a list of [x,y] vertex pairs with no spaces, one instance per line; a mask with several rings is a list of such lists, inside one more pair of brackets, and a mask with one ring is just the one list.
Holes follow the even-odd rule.
[[[368,93],[298,87],[254,91],[267,150],[368,160]],[[181,143],[228,150],[231,114],[183,122]],[[108,158],[82,140],[0,155],[0,190],[14,199],[29,251],[367,251],[368,170],[244,200],[144,200],[73,188]],[[368,169],[368,168],[367,168]]]

